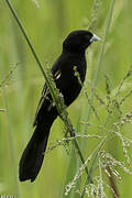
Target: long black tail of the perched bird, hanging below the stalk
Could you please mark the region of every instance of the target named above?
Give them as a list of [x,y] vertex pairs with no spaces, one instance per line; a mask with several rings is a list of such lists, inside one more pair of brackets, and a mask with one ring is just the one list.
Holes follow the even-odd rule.
[[48,120],[47,123],[43,124],[43,128],[41,124],[36,125],[20,160],[19,177],[21,182],[26,179],[34,182],[36,178],[44,160],[50,129],[54,119],[51,122],[48,122]]

